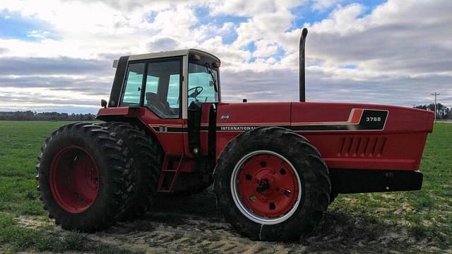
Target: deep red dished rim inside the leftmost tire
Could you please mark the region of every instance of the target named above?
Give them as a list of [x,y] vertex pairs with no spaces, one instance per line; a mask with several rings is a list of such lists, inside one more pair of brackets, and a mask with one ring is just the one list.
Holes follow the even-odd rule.
[[52,159],[50,189],[67,212],[87,210],[99,190],[99,174],[93,157],[81,147],[64,147]]

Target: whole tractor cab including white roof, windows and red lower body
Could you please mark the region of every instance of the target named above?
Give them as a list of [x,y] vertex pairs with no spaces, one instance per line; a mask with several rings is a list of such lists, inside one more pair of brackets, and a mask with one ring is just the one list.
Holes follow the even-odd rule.
[[201,121],[208,125],[212,119],[201,115],[210,116],[220,102],[220,59],[183,49],[122,56],[113,67],[117,70],[108,107],[103,102],[97,119],[139,119],[141,128],[150,129],[165,154],[177,161],[208,155],[208,145],[201,144],[208,142]]

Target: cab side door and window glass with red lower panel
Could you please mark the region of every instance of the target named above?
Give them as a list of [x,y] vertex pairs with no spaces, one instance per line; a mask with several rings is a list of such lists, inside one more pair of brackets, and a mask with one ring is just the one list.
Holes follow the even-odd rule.
[[184,153],[182,57],[129,62],[122,107],[144,108],[140,117],[167,154]]

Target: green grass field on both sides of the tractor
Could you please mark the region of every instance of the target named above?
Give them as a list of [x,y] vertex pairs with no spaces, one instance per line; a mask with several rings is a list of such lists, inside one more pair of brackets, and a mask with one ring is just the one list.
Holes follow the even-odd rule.
[[[64,124],[0,121],[0,253],[142,252],[63,231],[47,219],[36,191],[36,157],[44,139]],[[421,171],[422,191],[339,195],[312,236],[285,248],[295,252],[307,246],[303,250],[332,253],[452,253],[452,124],[434,126]],[[162,207],[178,209],[177,205]]]

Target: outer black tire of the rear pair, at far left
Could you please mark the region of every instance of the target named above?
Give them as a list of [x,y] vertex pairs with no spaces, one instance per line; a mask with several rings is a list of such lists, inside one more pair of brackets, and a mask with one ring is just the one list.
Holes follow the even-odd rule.
[[[102,128],[93,123],[69,124],[54,131],[47,138],[38,157],[38,191],[42,195],[44,209],[48,210],[49,217],[53,217],[63,229],[98,231],[111,226],[124,214],[129,206],[129,195],[133,191],[134,175],[130,169],[132,159],[129,156],[129,149],[121,143],[122,140],[112,135],[108,128]],[[76,171],[74,168],[83,170],[87,168],[83,164],[75,166],[78,157],[83,156],[90,157],[95,164],[97,194],[88,208],[71,212],[67,208],[69,206],[65,208],[65,205],[61,205],[66,201],[61,201],[64,199],[58,198],[52,190],[57,188],[61,193],[69,190],[67,193],[70,194],[67,196],[73,197],[71,190],[76,188],[73,187],[76,186],[76,181],[61,184],[62,182],[55,180],[56,176],[51,176],[51,173],[56,172],[54,174],[58,177],[66,177],[66,180],[76,179],[73,173]],[[52,177],[54,177],[53,180]],[[59,187],[55,187],[57,184]],[[81,194],[75,195],[79,195],[79,199],[82,200]],[[80,200],[74,203],[81,202]]]

